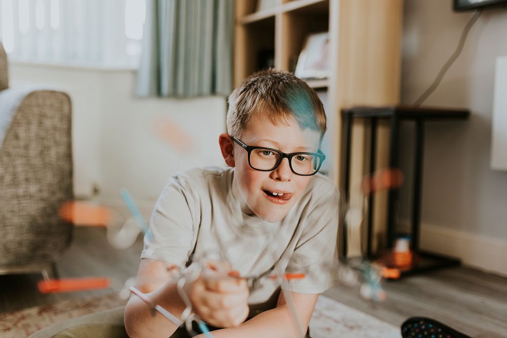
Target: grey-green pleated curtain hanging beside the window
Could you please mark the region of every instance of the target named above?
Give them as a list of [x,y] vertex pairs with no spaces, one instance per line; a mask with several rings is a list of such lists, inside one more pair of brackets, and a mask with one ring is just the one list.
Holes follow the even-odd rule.
[[233,0],[147,0],[136,94],[229,95]]

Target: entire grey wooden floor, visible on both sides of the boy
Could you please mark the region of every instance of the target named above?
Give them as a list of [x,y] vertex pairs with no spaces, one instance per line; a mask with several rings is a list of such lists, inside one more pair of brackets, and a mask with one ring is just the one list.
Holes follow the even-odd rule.
[[[77,228],[73,245],[58,263],[61,277],[108,276],[123,283],[135,276],[142,239],[118,251],[104,229]],[[0,276],[0,312],[51,304],[73,297],[111,292],[40,294],[38,275]],[[325,295],[374,317],[400,326],[411,316],[426,316],[473,337],[507,337],[507,279],[472,269],[453,268],[387,282],[386,302],[361,299],[357,288],[337,287]]]

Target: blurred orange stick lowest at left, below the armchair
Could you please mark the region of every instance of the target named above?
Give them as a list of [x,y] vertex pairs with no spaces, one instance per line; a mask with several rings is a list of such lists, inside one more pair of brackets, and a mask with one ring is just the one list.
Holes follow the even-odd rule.
[[111,280],[105,277],[67,278],[42,280],[38,283],[42,293],[74,292],[110,287]]

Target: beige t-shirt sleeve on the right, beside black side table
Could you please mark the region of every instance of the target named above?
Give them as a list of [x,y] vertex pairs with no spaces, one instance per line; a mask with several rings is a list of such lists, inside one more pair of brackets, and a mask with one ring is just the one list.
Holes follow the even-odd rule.
[[289,259],[286,273],[305,278],[284,281],[282,288],[299,293],[322,293],[337,285],[340,194],[334,186],[316,186],[318,196],[306,219],[301,237]]

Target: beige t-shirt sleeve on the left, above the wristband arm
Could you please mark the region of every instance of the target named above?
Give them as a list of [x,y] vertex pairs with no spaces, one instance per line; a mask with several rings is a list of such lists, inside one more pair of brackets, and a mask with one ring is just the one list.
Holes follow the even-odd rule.
[[163,260],[180,268],[193,247],[198,199],[182,175],[171,177],[160,195],[144,235],[141,258]]

